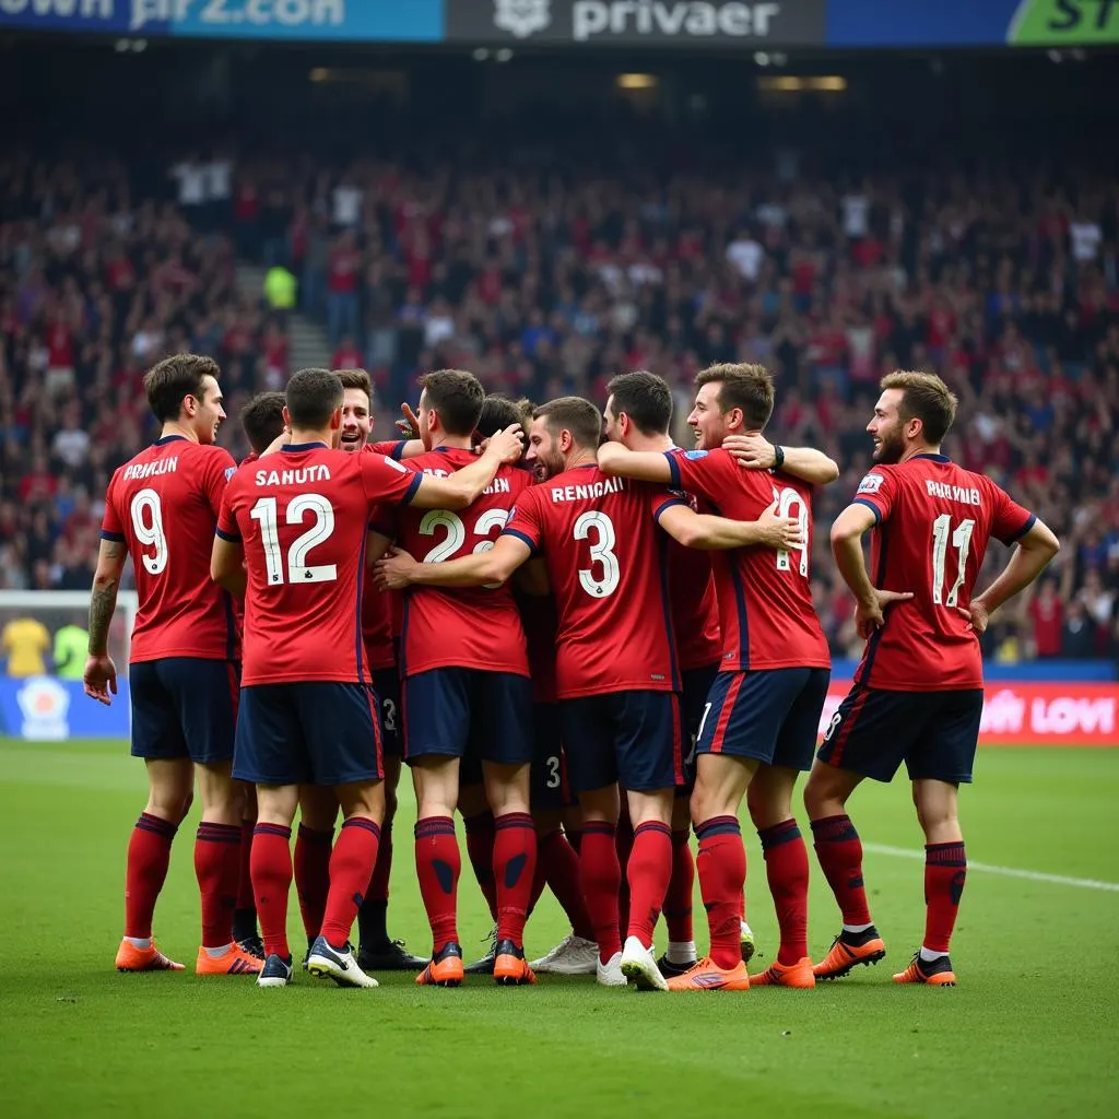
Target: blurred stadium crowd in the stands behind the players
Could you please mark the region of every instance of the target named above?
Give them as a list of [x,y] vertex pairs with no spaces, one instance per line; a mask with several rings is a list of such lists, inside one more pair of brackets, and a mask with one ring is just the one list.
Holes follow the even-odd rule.
[[[941,374],[961,399],[949,451],[1065,542],[993,624],[1005,660],[1119,650],[1119,195],[1091,177],[867,181],[667,179],[553,170],[526,148],[498,171],[448,153],[419,173],[367,161],[304,178],[203,161],[138,187],[104,161],[0,161],[0,586],[85,589],[97,502],[150,435],[141,377],[213,355],[227,411],[289,374],[282,317],[238,292],[237,256],[289,269],[335,367],[364,365],[384,406],[419,373],[601,404],[619,370],[676,391],[723,360],[779,376],[773,432],[843,468],[826,525],[869,462],[878,377]],[[781,173],[788,172],[788,173]],[[222,441],[235,454],[237,425]],[[677,439],[687,438],[677,430]],[[814,593],[833,651],[852,602],[817,534]],[[989,557],[995,564],[996,556]]]

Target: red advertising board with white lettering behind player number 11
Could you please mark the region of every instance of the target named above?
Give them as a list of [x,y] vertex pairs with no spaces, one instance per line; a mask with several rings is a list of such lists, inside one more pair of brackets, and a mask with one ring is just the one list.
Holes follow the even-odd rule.
[[[849,689],[831,681],[821,736]],[[1119,685],[988,680],[979,745],[1119,746]]]

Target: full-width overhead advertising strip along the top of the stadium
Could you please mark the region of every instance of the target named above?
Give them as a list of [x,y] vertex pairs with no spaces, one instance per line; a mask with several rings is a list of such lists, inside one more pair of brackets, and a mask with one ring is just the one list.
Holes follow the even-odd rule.
[[143,37],[696,47],[1119,43],[1117,0],[0,0],[0,28]]

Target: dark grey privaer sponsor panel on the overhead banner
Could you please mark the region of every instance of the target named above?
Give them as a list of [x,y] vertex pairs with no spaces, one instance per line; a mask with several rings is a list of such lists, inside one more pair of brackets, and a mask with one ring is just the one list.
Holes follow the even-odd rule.
[[449,41],[822,46],[827,0],[454,0]]

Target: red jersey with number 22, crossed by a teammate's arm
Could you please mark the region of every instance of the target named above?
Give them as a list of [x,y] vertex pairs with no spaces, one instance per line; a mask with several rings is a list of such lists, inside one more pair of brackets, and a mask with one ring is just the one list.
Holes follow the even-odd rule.
[[[473,451],[440,448],[410,459],[407,466],[445,478],[477,461]],[[492,547],[518,495],[530,483],[527,471],[502,467],[468,509],[407,509],[397,515],[394,526],[383,528],[378,514],[375,527],[394,536],[416,560],[445,563]],[[528,675],[525,634],[508,584],[405,591],[401,676],[452,667]]]

